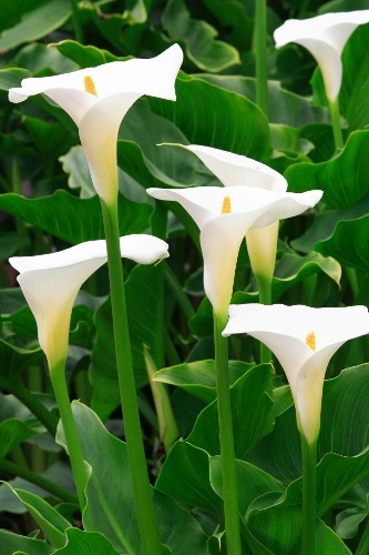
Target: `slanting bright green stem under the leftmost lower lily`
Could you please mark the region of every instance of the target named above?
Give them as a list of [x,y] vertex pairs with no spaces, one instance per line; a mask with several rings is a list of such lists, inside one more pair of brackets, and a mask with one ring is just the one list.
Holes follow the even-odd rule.
[[83,511],[85,507],[84,488],[89,476],[86,467],[83,462],[80,440],[76,432],[72,407],[68,394],[64,361],[55,363],[53,366],[50,366],[50,377],[52,387],[54,390],[57,403],[59,406],[60,418],[63,425],[65,444],[71,460],[76,494],[79,497],[81,511]]

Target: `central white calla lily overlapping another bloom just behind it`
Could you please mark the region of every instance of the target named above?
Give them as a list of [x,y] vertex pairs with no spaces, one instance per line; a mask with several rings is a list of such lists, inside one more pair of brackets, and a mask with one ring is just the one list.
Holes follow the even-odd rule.
[[250,228],[300,214],[314,206],[322,191],[286,193],[232,186],[147,189],[151,196],[177,201],[201,231],[204,256],[204,289],[217,315],[227,314],[238,250]]

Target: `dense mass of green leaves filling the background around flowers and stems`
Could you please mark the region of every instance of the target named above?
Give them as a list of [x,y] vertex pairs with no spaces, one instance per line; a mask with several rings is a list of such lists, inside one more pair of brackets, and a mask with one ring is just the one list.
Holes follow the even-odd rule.
[[[268,119],[256,105],[253,2],[242,0],[0,0],[0,545],[49,553],[139,553],[132,486],[112,344],[104,270],[73,310],[69,383],[91,467],[83,528],[64,438],[38,347],[37,330],[7,263],[103,238],[100,205],[72,121],[44,98],[10,104],[7,92],[29,75],[151,57],[174,41],[185,52],[175,103],[143,98],[120,131],[121,234],[168,240],[158,268],[125,263],[136,385],[168,553],[218,553],[223,529],[212,311],[204,297],[198,230],[178,206],[155,204],[151,186],[219,184],[183,149],[194,143],[244,154],[284,173],[289,191],[322,189],[312,211],[281,223],[273,301],[368,306],[369,26],[342,54],[340,108],[345,148],[337,154],[321,77],[290,44],[274,48],[284,20],[368,9],[366,0],[269,2]],[[257,301],[246,249],[234,302]],[[164,454],[147,353],[167,384],[181,438]],[[300,450],[295,413],[279,369],[258,364],[250,339],[232,340],[234,433],[245,553],[298,553]],[[369,343],[344,346],[328,369],[318,453],[321,554],[355,552],[368,518]],[[101,418],[104,424],[103,426]],[[107,432],[109,430],[109,432]],[[122,509],[122,507],[124,507]],[[35,521],[30,522],[29,513]],[[35,528],[42,535],[33,533]],[[184,542],[185,538],[185,542]]]

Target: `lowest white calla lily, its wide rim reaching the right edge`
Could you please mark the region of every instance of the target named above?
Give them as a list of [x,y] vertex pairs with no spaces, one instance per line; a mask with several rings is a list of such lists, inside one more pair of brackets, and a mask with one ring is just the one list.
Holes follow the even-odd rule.
[[290,385],[298,428],[312,444],[328,363],[346,341],[369,333],[369,313],[366,306],[230,305],[223,335],[235,333],[248,333],[274,352]]

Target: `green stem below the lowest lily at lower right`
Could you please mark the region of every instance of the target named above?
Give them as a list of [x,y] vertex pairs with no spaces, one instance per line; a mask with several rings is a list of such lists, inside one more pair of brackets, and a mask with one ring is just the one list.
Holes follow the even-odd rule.
[[301,434],[303,451],[303,536],[301,555],[316,554],[316,468],[317,442],[309,444]]

